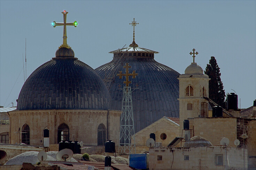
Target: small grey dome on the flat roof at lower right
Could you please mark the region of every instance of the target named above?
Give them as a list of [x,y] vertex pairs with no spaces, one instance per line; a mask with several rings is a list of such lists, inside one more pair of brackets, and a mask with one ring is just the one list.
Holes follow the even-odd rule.
[[183,147],[213,146],[211,142],[201,136],[194,136],[185,142]]

